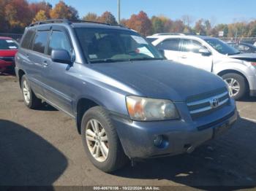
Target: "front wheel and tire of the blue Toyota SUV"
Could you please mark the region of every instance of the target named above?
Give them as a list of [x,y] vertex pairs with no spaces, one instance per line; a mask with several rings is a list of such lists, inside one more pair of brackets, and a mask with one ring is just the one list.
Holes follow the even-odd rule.
[[127,163],[116,129],[101,106],[95,106],[83,115],[81,133],[86,155],[100,170],[110,173]]

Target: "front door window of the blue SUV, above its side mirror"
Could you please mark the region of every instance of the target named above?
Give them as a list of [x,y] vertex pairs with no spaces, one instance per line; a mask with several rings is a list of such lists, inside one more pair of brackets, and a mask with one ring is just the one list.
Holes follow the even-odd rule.
[[69,54],[72,53],[72,46],[70,44],[69,38],[64,32],[53,31],[53,34],[50,37],[50,43],[48,47],[48,55],[51,54],[52,50],[62,49],[67,50]]

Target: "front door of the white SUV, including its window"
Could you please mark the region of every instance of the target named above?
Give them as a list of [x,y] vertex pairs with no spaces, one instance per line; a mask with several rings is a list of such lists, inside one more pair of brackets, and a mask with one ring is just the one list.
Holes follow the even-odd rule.
[[194,39],[182,39],[181,43],[182,53],[179,59],[180,63],[211,71],[213,56],[202,55],[199,52],[200,49],[207,49],[207,47]]

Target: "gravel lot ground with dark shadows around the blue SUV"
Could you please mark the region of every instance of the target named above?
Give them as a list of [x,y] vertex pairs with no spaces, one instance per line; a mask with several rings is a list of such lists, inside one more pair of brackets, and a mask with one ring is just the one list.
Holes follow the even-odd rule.
[[70,117],[47,105],[27,109],[15,77],[0,76],[0,98],[0,185],[256,186],[256,98],[237,102],[236,125],[191,155],[115,174],[91,165]]

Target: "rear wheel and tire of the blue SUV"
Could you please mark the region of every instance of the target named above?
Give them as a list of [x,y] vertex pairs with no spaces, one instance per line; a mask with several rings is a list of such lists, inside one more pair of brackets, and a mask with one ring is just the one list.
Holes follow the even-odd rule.
[[23,94],[24,104],[29,109],[37,109],[42,104],[42,100],[37,98],[37,96],[34,95],[34,92],[31,90],[29,80],[27,79],[26,75],[23,75],[23,77],[21,78],[21,90]]

